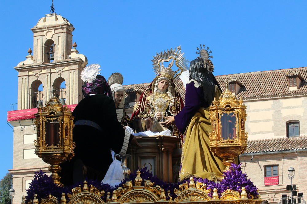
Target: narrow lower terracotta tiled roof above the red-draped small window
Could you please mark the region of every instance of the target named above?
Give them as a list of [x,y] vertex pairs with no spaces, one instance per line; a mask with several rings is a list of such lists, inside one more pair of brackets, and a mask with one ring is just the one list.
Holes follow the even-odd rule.
[[307,136],[249,140],[243,154],[289,150],[307,150]]

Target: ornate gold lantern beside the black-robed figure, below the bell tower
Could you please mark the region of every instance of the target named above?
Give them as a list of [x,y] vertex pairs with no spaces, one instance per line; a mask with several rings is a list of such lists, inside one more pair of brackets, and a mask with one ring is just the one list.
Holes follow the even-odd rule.
[[67,106],[62,106],[53,94],[44,108],[38,108],[35,114],[37,140],[35,154],[50,164],[52,180],[60,184],[60,164],[74,156],[75,145],[72,142],[73,117]]

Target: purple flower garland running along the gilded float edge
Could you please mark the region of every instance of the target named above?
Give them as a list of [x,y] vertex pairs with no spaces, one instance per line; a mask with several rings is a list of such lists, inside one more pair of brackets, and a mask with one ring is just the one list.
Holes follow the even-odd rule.
[[[157,176],[153,176],[153,174],[149,170],[147,170],[147,167],[140,169],[140,172],[141,178],[143,179],[142,186],[144,186],[144,180],[150,180],[151,182],[154,182],[155,186],[159,185],[165,190],[167,200],[169,200],[169,197],[167,196],[167,191],[170,191],[170,196],[172,198],[176,198],[177,195],[174,194],[174,189],[178,189],[180,184],[189,182],[189,179],[183,180],[178,183],[164,182],[160,180]],[[247,179],[247,175],[242,172],[240,164],[231,164],[230,170],[224,172],[223,176],[224,179],[221,182],[210,181],[207,178],[194,178],[194,182],[196,183],[198,181],[206,184],[207,189],[211,190],[211,192],[208,193],[211,198],[213,194],[213,188],[216,188],[218,190],[217,192],[220,197],[221,193],[223,191],[226,191],[227,189],[231,189],[241,193],[242,187],[245,187],[248,198],[258,198],[257,187],[253,184],[253,182],[251,182],[250,179]],[[105,201],[107,192],[112,193],[113,190],[117,189],[118,187],[122,187],[122,184],[124,184],[128,180],[132,180],[134,184],[135,177],[136,172],[131,173],[129,178],[123,180],[122,183],[115,188],[110,187],[109,184],[101,184],[101,181],[97,180],[87,180],[87,183],[88,185],[93,185],[97,187],[100,191],[105,191],[105,195],[101,197]],[[66,199],[69,200],[69,198],[67,197],[67,193],[71,193],[72,188],[77,186],[81,186],[82,188],[83,183],[74,184],[72,186],[66,187],[58,187],[56,184],[53,183],[51,176],[48,176],[46,172],[40,170],[38,172],[35,172],[30,187],[28,190],[26,190],[26,203],[29,202],[30,199],[33,200],[34,194],[37,194],[39,202],[41,202],[42,198],[47,198],[49,194],[58,198],[58,202],[60,202],[62,193],[65,193]]]

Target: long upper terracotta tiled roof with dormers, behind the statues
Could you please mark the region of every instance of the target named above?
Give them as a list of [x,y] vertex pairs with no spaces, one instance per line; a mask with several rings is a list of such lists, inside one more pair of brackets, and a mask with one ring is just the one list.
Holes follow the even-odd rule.
[[[289,91],[288,78],[286,74],[289,72],[296,72],[300,74],[302,82],[297,90]],[[225,90],[226,79],[235,78],[242,87],[240,88],[237,98],[262,98],[279,95],[295,95],[295,94],[307,94],[307,67],[291,68],[291,69],[279,69],[271,71],[260,72],[247,72],[240,74],[229,74],[216,76],[216,80],[220,84],[222,90]],[[131,84],[125,85],[125,89],[134,89],[142,93],[149,83]],[[175,85],[181,94],[183,101],[185,101],[185,89],[180,80],[175,81]],[[125,108],[132,108],[127,102],[128,94],[126,94]]]

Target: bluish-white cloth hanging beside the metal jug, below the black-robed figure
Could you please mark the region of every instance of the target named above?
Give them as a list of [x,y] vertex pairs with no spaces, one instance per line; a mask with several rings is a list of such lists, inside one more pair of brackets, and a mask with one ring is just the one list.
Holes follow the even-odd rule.
[[120,183],[122,183],[123,180],[124,180],[124,174],[122,172],[122,162],[115,159],[111,163],[101,183],[109,184],[111,187],[115,187]]

